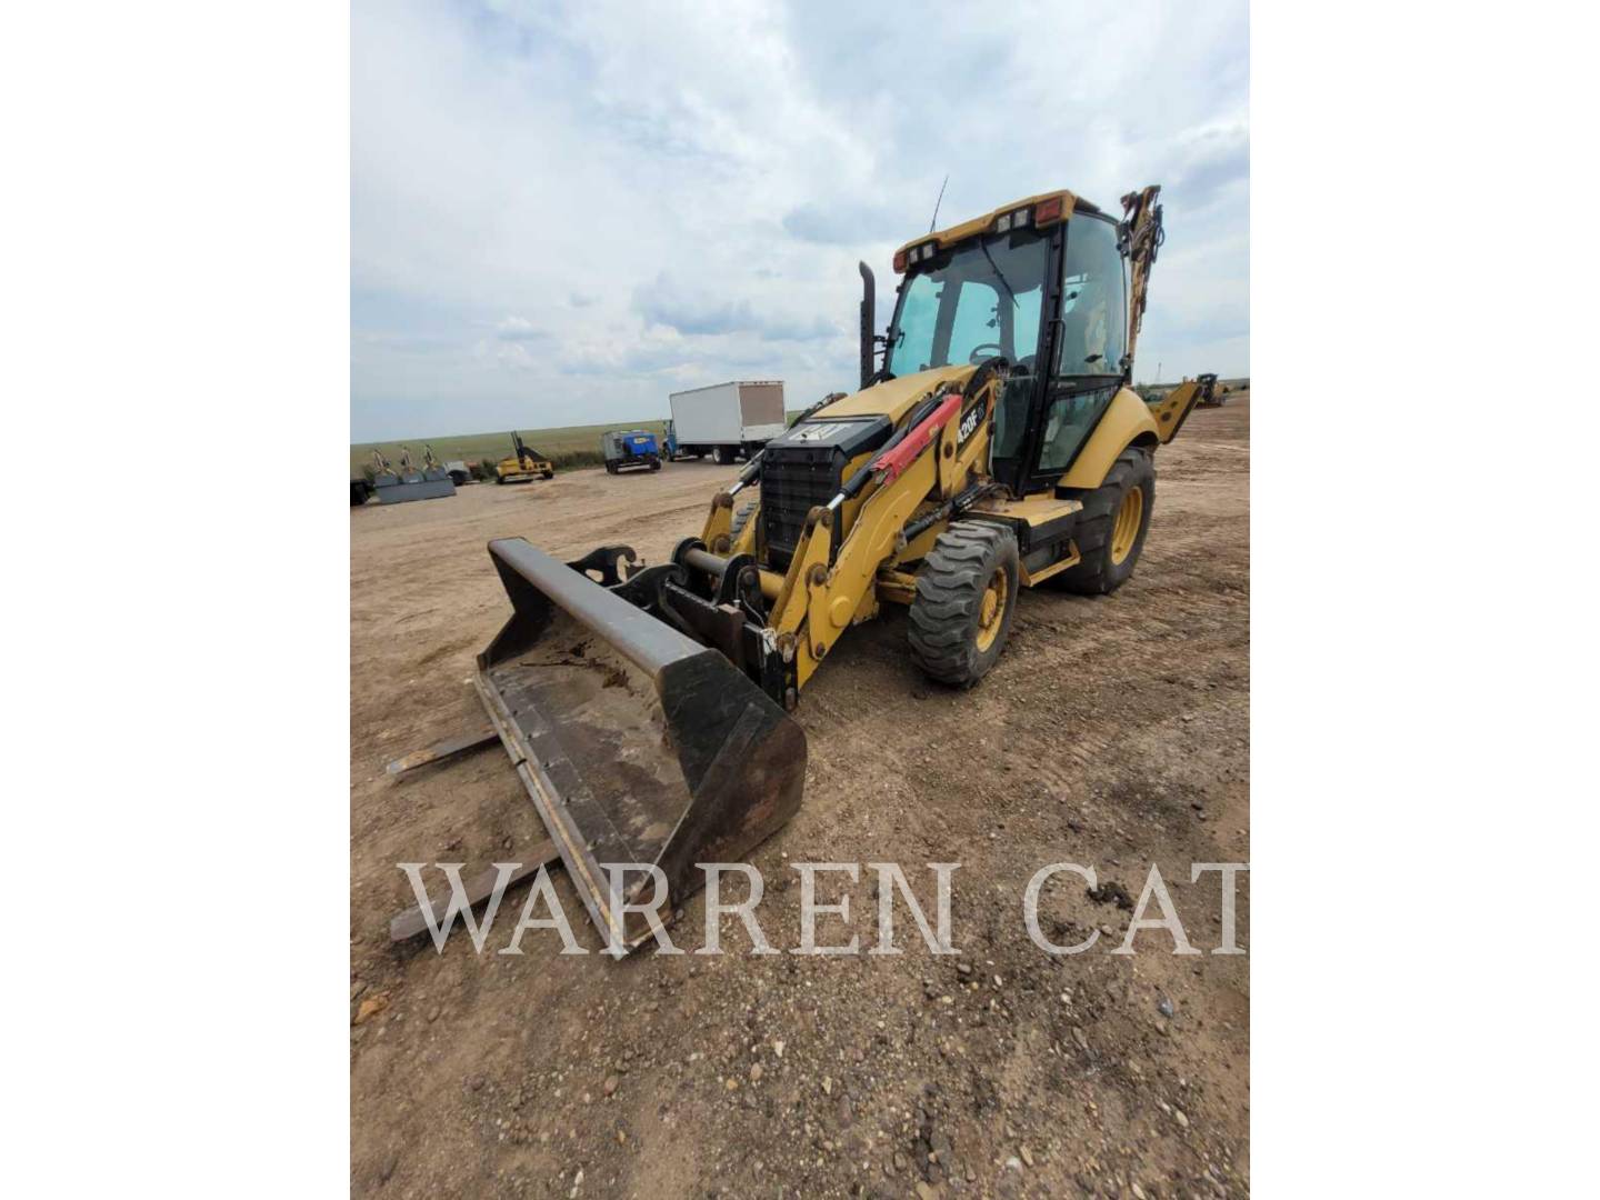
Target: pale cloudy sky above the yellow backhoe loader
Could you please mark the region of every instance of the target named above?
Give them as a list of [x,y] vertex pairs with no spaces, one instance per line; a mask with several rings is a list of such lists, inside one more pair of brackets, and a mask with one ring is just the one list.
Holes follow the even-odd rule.
[[1134,379],[1250,373],[1245,3],[355,0],[350,437],[858,382],[858,259],[1162,184]]

